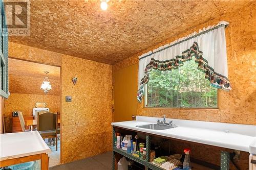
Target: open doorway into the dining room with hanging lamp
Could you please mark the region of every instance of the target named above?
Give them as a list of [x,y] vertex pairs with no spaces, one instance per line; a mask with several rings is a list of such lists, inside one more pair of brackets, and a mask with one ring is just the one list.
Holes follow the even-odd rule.
[[[37,109],[46,109],[56,113],[58,117],[57,138],[45,138],[45,142],[51,149],[49,154],[49,167],[60,164],[60,110],[61,110],[61,78],[60,67],[41,64],[19,59],[8,59],[9,63],[9,99],[4,104],[5,132],[21,132],[18,117],[13,114],[21,111],[26,122],[35,119]],[[46,74],[45,71],[49,73]],[[46,77],[49,79],[51,90],[42,89],[41,84]],[[46,80],[48,81],[48,80]],[[37,121],[35,121],[37,122]],[[35,125],[34,125],[35,124]],[[27,130],[37,130],[36,123],[27,125]],[[55,128],[56,129],[56,128]],[[56,148],[57,144],[57,148]]]

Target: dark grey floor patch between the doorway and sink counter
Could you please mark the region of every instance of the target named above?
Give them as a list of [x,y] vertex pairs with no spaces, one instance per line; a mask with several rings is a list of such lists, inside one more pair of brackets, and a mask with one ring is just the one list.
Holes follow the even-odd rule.
[[49,170],[110,170],[112,169],[112,152],[106,152],[90,158],[74,161],[67,164],[61,164],[50,167]]

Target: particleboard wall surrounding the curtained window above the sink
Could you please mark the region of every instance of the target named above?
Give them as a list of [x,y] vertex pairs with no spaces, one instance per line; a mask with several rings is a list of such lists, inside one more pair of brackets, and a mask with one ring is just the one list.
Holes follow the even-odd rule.
[[[178,38],[198,31],[209,25],[215,25],[220,20],[228,21],[226,28],[228,76],[232,85],[229,92],[220,90],[220,109],[150,109],[137,103],[137,115],[180,118],[191,120],[204,120],[210,122],[256,124],[256,2],[250,2],[248,6],[234,13],[227,13],[208,22],[191,28],[186,32],[163,41],[147,50],[118,62],[113,70],[125,68],[131,64],[138,64],[138,56],[150,50],[172,42]],[[136,70],[137,72],[138,70]],[[125,75],[123,75],[125,76]],[[137,76],[137,75],[132,75]],[[125,83],[125,82],[123,82]],[[134,91],[124,91],[131,93]],[[136,96],[134,96],[136,98]],[[115,114],[122,114],[116,113]],[[136,114],[136,113],[134,113]]]

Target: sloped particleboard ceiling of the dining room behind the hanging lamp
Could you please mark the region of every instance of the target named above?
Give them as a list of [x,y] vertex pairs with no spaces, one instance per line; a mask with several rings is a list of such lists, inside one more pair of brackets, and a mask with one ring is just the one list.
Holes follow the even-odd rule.
[[40,89],[41,83],[47,75],[52,85],[50,95],[60,94],[60,68],[9,58],[9,91],[10,93],[44,94]]

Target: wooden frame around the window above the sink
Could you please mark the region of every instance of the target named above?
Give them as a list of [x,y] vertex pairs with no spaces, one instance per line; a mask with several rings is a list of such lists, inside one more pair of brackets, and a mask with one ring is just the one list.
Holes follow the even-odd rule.
[[143,108],[147,109],[184,109],[184,110],[220,110],[220,89],[217,89],[217,107],[150,107],[147,106],[147,84],[144,85]]

